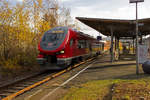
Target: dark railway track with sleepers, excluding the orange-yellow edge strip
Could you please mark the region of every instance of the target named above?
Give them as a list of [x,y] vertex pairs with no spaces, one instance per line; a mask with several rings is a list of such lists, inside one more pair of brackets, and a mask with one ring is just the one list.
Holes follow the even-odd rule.
[[30,85],[33,85],[55,73],[52,71],[44,71],[35,76],[31,76],[30,78],[28,77],[26,79],[19,80],[18,82],[14,82],[14,83],[8,84],[4,87],[1,87],[0,88],[0,100],[1,99],[3,100],[3,98],[6,98],[7,96],[9,96],[13,93],[16,93],[17,91],[20,91]]

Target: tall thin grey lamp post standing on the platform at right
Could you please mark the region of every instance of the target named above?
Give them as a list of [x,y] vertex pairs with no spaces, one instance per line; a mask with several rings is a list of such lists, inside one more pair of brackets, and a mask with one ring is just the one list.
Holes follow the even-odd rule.
[[136,3],[136,74],[139,74],[139,41],[138,41],[138,3],[144,2],[144,0],[129,0],[130,3]]

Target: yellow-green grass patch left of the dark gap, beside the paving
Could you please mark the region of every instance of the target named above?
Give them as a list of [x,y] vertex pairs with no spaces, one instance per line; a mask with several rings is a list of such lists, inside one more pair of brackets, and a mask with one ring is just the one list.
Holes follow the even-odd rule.
[[109,85],[111,85],[110,81],[95,81],[79,87],[72,87],[61,100],[97,100],[97,98],[109,93]]

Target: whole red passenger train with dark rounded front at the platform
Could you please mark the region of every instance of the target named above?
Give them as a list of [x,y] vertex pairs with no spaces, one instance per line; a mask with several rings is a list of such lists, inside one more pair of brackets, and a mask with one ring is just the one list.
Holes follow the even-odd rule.
[[100,54],[103,46],[103,43],[87,34],[68,27],[56,27],[44,33],[38,45],[40,53],[37,61],[42,65],[52,65],[50,69],[62,69]]

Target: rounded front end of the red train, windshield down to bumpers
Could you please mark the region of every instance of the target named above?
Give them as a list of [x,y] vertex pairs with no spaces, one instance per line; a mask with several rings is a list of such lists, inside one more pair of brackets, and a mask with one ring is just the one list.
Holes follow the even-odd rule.
[[40,53],[37,61],[40,65],[64,65],[63,62],[58,61],[58,57],[65,53],[67,34],[67,27],[56,27],[44,33],[38,45]]

